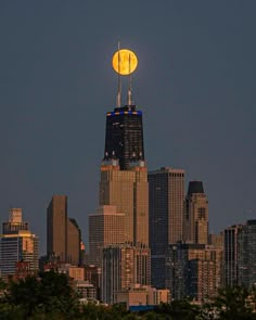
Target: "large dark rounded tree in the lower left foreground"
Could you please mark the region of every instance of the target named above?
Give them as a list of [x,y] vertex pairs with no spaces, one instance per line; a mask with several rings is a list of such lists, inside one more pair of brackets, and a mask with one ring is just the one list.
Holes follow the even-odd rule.
[[68,278],[53,271],[41,273],[40,279],[11,282],[7,304],[22,313],[21,319],[44,319],[44,315],[46,319],[74,319],[79,315],[78,296]]

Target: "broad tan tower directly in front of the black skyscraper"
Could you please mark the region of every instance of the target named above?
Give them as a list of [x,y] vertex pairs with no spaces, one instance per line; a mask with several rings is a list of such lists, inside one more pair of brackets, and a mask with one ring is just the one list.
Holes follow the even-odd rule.
[[101,166],[100,205],[115,205],[125,214],[125,242],[149,245],[149,183],[145,163],[120,170],[117,159]]

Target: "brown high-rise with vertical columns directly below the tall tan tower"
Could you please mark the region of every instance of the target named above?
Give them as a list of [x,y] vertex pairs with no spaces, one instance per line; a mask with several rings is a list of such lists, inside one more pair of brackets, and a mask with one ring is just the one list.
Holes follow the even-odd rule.
[[116,303],[117,292],[137,284],[150,285],[150,249],[145,246],[115,244],[103,249],[102,299]]

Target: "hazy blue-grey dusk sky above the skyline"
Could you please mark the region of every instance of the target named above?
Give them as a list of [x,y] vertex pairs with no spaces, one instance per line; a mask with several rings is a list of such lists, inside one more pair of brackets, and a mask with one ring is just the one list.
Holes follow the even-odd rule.
[[255,13],[255,0],[1,0],[0,220],[22,207],[43,253],[47,206],[67,194],[88,238],[118,40],[139,59],[149,169],[203,180],[210,231],[256,218]]

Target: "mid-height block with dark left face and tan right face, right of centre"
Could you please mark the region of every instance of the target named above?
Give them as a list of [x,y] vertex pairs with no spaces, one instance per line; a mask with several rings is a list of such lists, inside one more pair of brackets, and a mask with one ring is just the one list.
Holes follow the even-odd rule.
[[221,285],[222,249],[197,243],[171,244],[166,255],[166,286],[175,299],[199,303],[217,295]]

